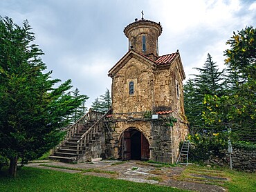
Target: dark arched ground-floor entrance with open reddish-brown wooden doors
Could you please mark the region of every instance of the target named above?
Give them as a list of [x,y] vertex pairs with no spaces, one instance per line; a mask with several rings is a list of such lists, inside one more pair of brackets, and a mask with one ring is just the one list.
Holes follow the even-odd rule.
[[128,128],[120,138],[122,160],[149,160],[149,142],[135,128]]

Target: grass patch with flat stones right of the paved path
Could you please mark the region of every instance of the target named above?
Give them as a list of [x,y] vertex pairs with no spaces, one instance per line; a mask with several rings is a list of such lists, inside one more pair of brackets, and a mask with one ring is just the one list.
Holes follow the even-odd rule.
[[200,182],[223,186],[231,192],[256,192],[256,174],[230,169],[208,168],[205,166],[188,166],[177,180]]

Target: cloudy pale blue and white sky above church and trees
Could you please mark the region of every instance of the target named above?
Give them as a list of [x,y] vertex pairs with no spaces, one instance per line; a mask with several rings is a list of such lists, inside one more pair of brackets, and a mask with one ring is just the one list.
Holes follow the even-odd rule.
[[28,20],[35,44],[52,77],[72,79],[73,89],[96,97],[111,90],[108,71],[128,51],[123,30],[134,19],[161,22],[159,55],[179,49],[186,79],[202,68],[210,53],[224,68],[223,51],[233,31],[256,27],[253,0],[1,0],[0,16],[19,26]]

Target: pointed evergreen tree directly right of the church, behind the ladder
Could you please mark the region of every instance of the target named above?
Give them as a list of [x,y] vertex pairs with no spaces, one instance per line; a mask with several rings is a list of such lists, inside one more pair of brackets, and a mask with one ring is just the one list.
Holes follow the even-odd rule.
[[219,71],[210,54],[208,54],[203,68],[195,69],[199,71],[199,75],[194,75],[195,78],[190,79],[184,85],[185,114],[190,122],[190,133],[212,132],[212,127],[205,124],[202,117],[203,111],[207,107],[203,105],[203,99],[205,95],[214,96],[225,93],[224,70]]

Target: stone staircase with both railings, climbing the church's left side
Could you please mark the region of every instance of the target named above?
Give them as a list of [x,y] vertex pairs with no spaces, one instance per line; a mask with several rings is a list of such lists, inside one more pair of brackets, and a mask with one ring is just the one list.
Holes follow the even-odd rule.
[[64,140],[53,149],[49,159],[86,162],[99,158],[104,153],[105,117],[109,112],[104,114],[90,109],[89,113],[68,128]]

